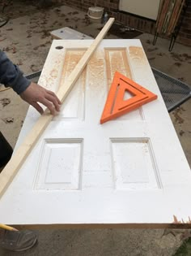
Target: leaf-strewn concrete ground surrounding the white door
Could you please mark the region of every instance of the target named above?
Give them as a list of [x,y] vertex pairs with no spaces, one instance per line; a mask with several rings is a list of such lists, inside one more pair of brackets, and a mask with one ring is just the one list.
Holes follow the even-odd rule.
[[[52,42],[50,31],[70,26],[91,37],[99,33],[100,24],[87,25],[83,11],[66,6],[38,10],[22,1],[15,1],[14,5],[6,7],[11,20],[0,28],[0,47],[25,74],[42,69]],[[108,33],[105,38],[117,36]],[[138,38],[151,67],[191,85],[191,48],[176,43],[170,53],[168,40],[158,38],[152,46],[152,35],[142,33]],[[1,131],[14,147],[28,104],[7,89],[0,92],[0,111]],[[191,100],[170,116],[191,166]],[[8,253],[0,249],[0,255],[173,255],[185,231],[163,232],[157,229],[39,230],[39,242],[34,248],[26,253]]]

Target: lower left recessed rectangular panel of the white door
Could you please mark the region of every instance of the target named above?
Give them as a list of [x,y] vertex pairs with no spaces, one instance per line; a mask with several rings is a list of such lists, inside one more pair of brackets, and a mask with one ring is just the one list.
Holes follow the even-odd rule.
[[34,189],[80,189],[82,154],[80,139],[46,139],[40,152]]

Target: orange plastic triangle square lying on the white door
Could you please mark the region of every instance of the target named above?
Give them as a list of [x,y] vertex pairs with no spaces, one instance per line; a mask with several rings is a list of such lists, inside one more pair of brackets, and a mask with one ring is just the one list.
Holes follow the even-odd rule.
[[[124,100],[125,91],[133,94],[133,97]],[[104,111],[100,119],[100,124],[104,124],[108,120],[115,119],[129,111],[133,111],[139,106],[151,102],[156,98],[157,95],[154,93],[136,84],[133,80],[123,76],[121,73],[115,72]]]

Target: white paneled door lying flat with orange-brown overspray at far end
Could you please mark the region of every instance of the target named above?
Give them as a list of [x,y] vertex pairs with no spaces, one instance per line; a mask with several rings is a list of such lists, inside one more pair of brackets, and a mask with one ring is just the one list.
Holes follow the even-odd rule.
[[[53,41],[39,83],[57,91],[90,45]],[[100,124],[115,71],[158,99]],[[38,116],[31,107],[18,145]],[[190,198],[189,165],[140,41],[104,40],[2,196],[0,219],[157,227],[190,222]]]

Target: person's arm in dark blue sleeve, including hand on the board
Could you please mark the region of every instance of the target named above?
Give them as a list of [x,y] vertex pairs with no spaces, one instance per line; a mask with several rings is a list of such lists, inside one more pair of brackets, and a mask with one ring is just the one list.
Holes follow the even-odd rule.
[[24,77],[19,67],[15,66],[2,50],[0,50],[0,83],[14,89],[25,102],[34,106],[40,114],[43,114],[43,109],[38,102],[47,106],[53,115],[60,110],[61,102],[55,93]]

